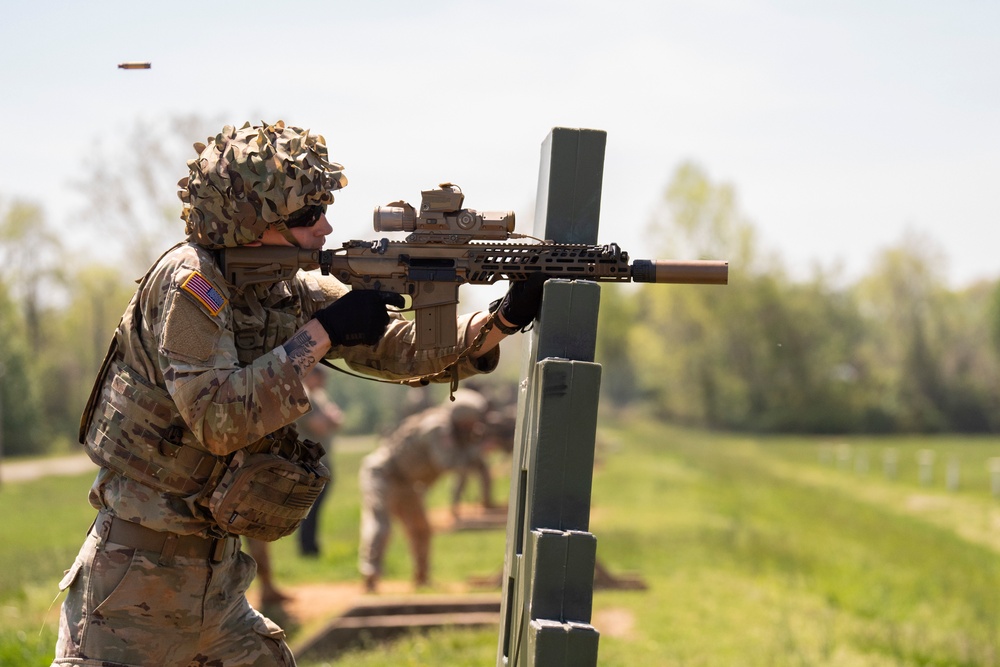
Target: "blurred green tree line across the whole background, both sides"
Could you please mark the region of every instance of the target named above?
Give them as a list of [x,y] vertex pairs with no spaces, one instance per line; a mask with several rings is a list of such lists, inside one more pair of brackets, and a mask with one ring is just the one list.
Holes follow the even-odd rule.
[[[187,125],[184,131],[191,136]],[[147,134],[136,131],[133,143]],[[142,256],[132,253],[128,265],[87,261],[61,244],[41,206],[0,200],[5,455],[75,441],[133,280],[178,236],[176,208],[154,192],[154,183],[172,183],[154,177],[157,165],[177,158],[139,148],[146,159],[138,184],[138,167],[128,164],[94,172],[94,183],[84,184],[102,224],[139,239],[130,244]],[[122,206],[126,189],[132,203]],[[137,213],[142,201],[153,213]],[[142,227],[144,219],[152,223]],[[713,183],[696,164],[671,178],[650,238],[661,256],[728,259],[730,284],[603,290],[598,361],[606,406],[758,432],[1000,431],[1000,284],[950,289],[931,240],[905,237],[850,284],[819,268],[793,279],[780,257],[759,248],[734,188]],[[390,422],[408,391],[330,384],[348,430],[363,432]]]

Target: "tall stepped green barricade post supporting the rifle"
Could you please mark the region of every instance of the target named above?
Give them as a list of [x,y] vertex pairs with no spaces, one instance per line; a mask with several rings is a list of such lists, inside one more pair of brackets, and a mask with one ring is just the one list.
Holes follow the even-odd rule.
[[[607,134],[554,128],[542,143],[534,236],[597,243]],[[589,532],[601,367],[600,286],[549,280],[527,335],[507,512],[497,667],[597,665]]]

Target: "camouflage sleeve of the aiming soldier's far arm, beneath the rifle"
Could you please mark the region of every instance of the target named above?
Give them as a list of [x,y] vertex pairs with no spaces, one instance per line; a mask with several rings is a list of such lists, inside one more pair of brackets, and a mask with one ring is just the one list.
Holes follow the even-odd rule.
[[[310,298],[302,299],[305,319],[311,318],[317,310],[349,291],[348,287],[332,276],[323,276],[318,272],[302,272],[299,275],[302,289],[310,295]],[[437,350],[417,350],[413,323],[402,315],[393,314],[391,317],[385,336],[378,345],[337,346],[330,350],[327,358],[343,359],[348,366],[360,373],[391,380],[437,373],[465,349],[466,335],[473,315],[459,316],[455,344]],[[478,359],[465,359],[459,364],[459,377],[490,373],[497,367],[499,360],[499,347]]]

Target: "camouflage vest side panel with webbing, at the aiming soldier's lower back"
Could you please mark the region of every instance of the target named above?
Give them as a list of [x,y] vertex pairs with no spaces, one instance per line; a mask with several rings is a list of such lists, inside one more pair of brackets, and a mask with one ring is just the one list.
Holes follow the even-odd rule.
[[84,414],[90,458],[157,491],[203,492],[223,462],[201,449],[180,421],[166,390],[112,359],[97,400]]

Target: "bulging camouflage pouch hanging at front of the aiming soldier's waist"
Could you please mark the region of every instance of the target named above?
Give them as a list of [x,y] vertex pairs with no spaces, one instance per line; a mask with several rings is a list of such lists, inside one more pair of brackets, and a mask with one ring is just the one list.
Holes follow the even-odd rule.
[[208,501],[222,530],[264,542],[290,535],[330,481],[318,443],[291,440],[274,450],[232,455]]

